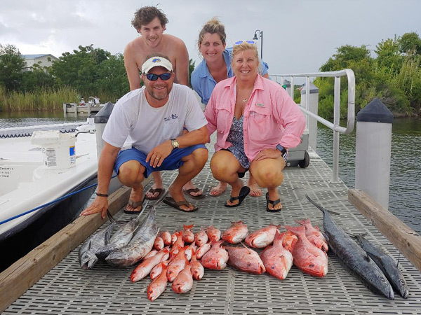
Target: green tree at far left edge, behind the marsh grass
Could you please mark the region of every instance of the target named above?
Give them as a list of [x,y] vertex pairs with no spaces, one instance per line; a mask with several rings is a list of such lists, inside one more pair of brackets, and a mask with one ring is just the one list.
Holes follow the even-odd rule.
[[0,85],[6,91],[18,90],[22,83],[25,61],[14,45],[0,44]]

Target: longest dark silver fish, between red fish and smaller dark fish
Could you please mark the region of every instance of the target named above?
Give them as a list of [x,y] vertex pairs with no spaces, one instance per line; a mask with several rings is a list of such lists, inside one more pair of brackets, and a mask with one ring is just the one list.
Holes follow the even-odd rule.
[[327,209],[321,207],[320,204],[316,204],[307,194],[305,197],[323,212],[324,236],[328,241],[329,247],[339,258],[342,265],[361,279],[362,283],[373,293],[384,295],[389,300],[394,300],[392,286],[373,260],[330,218]]

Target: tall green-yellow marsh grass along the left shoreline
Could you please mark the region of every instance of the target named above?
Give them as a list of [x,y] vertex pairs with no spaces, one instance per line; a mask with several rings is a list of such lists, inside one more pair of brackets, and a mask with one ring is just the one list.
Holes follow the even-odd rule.
[[63,103],[77,102],[72,87],[42,88],[33,92],[6,92],[0,87],[0,111],[60,111]]

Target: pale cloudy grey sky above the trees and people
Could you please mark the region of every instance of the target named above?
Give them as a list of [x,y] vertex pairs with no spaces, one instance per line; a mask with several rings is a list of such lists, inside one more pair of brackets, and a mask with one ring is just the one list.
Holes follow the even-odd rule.
[[166,32],[185,41],[196,64],[199,31],[213,16],[225,24],[228,45],[263,31],[271,74],[318,71],[341,45],[375,50],[395,34],[421,35],[420,0],[1,0],[0,43],[24,55],[60,57],[91,44],[114,55],[138,36],[135,10],[158,4],[169,20]]

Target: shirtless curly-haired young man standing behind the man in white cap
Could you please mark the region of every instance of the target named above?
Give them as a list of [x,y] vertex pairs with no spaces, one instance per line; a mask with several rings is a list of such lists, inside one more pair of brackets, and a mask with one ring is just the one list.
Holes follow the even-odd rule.
[[[185,43],[178,37],[163,34],[168,19],[154,6],[144,6],[136,11],[132,25],[141,35],[124,48],[124,65],[126,66],[130,90],[140,88],[140,67],[145,57],[154,52],[167,55],[173,64],[175,83],[189,85],[189,53]],[[153,172],[154,185],[145,194],[145,198],[156,200],[164,192],[161,175]],[[183,188],[190,197],[202,197],[202,191],[189,181]],[[135,196],[131,196],[135,198]],[[133,199],[132,198],[132,199]],[[136,199],[136,198],[135,198]],[[135,209],[133,209],[135,210]]]

